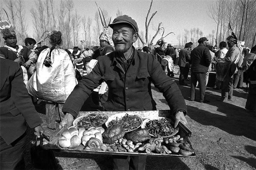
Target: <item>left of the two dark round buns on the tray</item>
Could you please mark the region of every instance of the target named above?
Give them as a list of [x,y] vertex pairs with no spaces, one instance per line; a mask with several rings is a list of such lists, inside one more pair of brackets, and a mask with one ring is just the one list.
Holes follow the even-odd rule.
[[108,127],[103,133],[103,143],[112,143],[125,135],[125,129],[119,125]]

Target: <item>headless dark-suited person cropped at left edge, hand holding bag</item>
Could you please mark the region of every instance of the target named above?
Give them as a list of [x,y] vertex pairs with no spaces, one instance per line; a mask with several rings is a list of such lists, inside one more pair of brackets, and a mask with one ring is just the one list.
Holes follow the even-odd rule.
[[0,169],[25,169],[26,123],[40,137],[44,129],[23,82],[18,62],[0,58]]

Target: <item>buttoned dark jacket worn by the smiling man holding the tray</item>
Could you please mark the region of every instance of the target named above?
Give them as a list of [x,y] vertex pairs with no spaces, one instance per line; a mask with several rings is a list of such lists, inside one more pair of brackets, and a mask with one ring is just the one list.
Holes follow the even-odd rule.
[[[134,48],[133,48],[134,49]],[[134,49],[134,56],[126,73],[117,61],[117,52],[98,58],[92,72],[75,86],[67,98],[62,111],[74,117],[92,90],[103,80],[108,84],[107,111],[156,110],[151,92],[151,82],[163,93],[173,114],[187,112],[185,100],[177,84],[162,70],[156,56]]]

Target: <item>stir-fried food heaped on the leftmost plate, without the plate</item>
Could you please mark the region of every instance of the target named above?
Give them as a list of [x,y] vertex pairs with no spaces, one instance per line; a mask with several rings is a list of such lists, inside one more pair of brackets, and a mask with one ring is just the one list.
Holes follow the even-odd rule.
[[100,114],[88,114],[87,116],[81,118],[77,125],[84,126],[85,129],[88,129],[90,127],[96,127],[102,124],[107,118]]

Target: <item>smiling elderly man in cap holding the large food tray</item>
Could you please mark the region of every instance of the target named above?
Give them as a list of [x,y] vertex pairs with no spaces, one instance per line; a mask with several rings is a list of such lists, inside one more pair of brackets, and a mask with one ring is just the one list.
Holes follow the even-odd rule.
[[[177,84],[163,71],[156,56],[138,51],[132,44],[138,39],[138,26],[127,15],[118,16],[110,24],[115,52],[98,58],[98,63],[69,95],[64,107],[65,118],[61,126],[70,126],[89,94],[102,81],[108,84],[106,111],[156,110],[151,93],[151,82],[163,93],[171,113],[187,124],[187,107]],[[113,156],[114,169],[145,169],[146,156]]]

